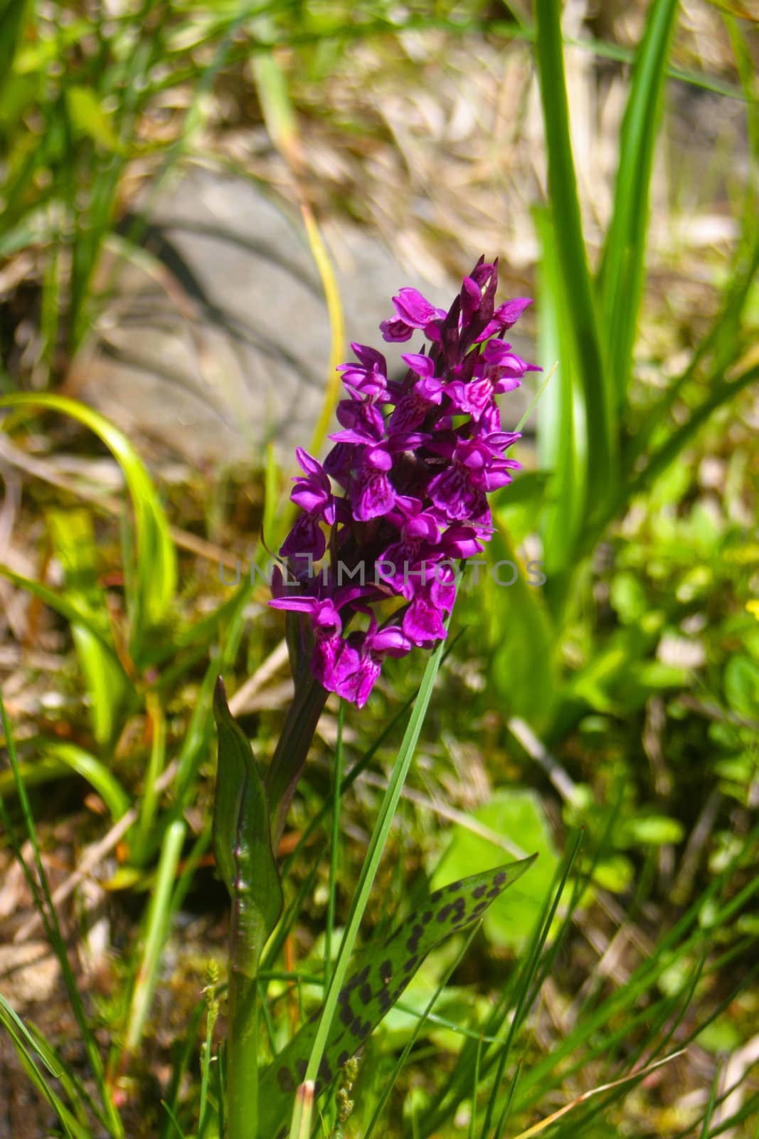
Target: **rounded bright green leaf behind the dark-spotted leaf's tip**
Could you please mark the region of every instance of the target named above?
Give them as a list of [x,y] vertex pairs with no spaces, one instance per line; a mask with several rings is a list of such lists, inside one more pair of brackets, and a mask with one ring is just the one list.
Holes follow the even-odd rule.
[[[559,865],[547,819],[539,798],[523,788],[496,790],[472,817],[538,855],[529,877],[500,898],[484,923],[485,933],[494,944],[520,950],[533,932]],[[440,859],[432,885],[438,885],[443,875],[479,870],[487,866],[493,853],[493,843],[487,838],[467,827],[453,827],[451,844]]]

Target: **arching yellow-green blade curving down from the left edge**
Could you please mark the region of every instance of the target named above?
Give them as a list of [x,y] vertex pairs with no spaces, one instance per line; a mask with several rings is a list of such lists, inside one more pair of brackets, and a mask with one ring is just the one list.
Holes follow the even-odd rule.
[[[134,508],[137,567],[125,558],[133,656],[142,646],[146,628],[166,615],[176,585],[176,554],[168,522],[145,464],[126,439],[105,416],[64,395],[14,394],[0,398],[0,408],[38,408],[59,411],[98,435],[121,466]],[[10,574],[8,574],[10,576]],[[97,632],[97,630],[96,630]]]

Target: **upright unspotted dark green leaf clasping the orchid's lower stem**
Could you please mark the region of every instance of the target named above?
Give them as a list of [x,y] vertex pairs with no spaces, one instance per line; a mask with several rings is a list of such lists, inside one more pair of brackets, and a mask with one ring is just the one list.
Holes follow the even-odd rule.
[[255,976],[264,944],[282,910],[282,886],[274,860],[266,792],[250,744],[226,704],[218,678],[214,693],[218,767],[214,802],[216,866],[240,918],[232,944],[233,967]]

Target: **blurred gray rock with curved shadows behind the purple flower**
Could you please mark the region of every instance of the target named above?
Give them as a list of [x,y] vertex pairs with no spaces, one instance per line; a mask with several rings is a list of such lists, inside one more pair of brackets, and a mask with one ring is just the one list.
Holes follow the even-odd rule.
[[[148,435],[196,464],[251,461],[270,441],[284,458],[307,445],[329,367],[330,327],[299,219],[261,186],[193,171],[122,230],[149,257],[121,262],[113,301],[72,394],[131,435]],[[386,351],[390,368],[412,346],[378,331],[390,297],[413,285],[447,308],[440,289],[401,269],[371,233],[340,223],[330,252],[348,341]],[[523,341],[518,347],[526,350]],[[519,395],[520,393],[515,393]],[[523,400],[510,399],[512,419]]]

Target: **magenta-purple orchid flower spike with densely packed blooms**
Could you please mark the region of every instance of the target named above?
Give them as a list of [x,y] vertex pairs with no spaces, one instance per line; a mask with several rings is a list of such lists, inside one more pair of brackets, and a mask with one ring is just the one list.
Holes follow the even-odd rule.
[[[407,371],[394,382],[380,352],[352,344],[335,446],[323,466],[297,450],[303,475],[290,497],[302,514],[280,549],[288,584],[278,572],[271,604],[308,618],[313,675],[358,707],[387,656],[445,637],[456,565],[482,551],[487,495],[519,467],[505,457],[519,434],[501,431],[495,398],[539,369],[504,341],[530,301],[496,308],[496,287],[497,261],[480,259],[447,312],[402,288],[382,337],[419,331],[427,345],[402,357]],[[380,624],[372,606],[388,598],[402,605]],[[368,628],[348,631],[361,614]]]

